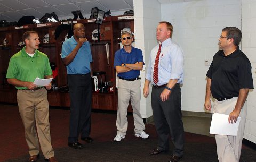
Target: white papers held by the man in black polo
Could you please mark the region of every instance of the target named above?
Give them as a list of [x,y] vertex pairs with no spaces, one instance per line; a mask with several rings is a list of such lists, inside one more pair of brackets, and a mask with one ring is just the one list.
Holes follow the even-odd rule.
[[236,136],[241,117],[238,117],[236,123],[233,122],[233,124],[228,123],[228,117],[229,115],[214,113],[212,116],[210,134]]

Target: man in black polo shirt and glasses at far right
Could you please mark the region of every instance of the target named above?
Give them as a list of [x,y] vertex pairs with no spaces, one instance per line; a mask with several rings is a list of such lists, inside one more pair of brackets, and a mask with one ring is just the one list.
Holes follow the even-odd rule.
[[219,38],[219,50],[206,74],[205,108],[211,110],[210,96],[214,101],[213,113],[229,115],[235,123],[241,116],[237,136],[215,135],[219,161],[238,162],[247,114],[247,95],[253,89],[251,63],[238,47],[242,33],[236,27],[226,27]]

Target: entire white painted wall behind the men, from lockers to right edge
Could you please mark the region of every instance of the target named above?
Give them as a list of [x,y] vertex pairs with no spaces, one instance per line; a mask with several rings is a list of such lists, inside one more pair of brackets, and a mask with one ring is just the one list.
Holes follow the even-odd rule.
[[[163,0],[160,2],[165,3]],[[205,112],[204,98],[206,87],[205,60],[212,61],[219,50],[218,38],[223,28],[238,27],[243,37],[241,49],[250,59],[255,81],[256,68],[256,0],[198,0],[175,1],[159,4],[157,0],[134,0],[135,45],[142,49],[147,66],[151,48],[157,45],[155,30],[159,21],[172,23],[172,39],[185,51],[185,81],[181,88],[182,110]],[[242,11],[241,11],[242,9]],[[159,12],[161,11],[161,13]],[[241,18],[242,17],[242,18]],[[242,20],[241,20],[242,19]],[[141,91],[145,71],[141,72]],[[153,115],[151,96],[141,96],[143,118]],[[256,143],[256,92],[250,91],[244,138]]]

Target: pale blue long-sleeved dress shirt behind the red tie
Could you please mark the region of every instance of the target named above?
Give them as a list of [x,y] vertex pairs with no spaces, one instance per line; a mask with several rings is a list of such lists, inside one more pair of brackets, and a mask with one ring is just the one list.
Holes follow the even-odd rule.
[[[155,46],[150,53],[149,63],[147,67],[146,79],[153,82],[153,72],[155,66],[156,54],[159,45]],[[178,79],[177,83],[182,84],[184,80],[183,72],[184,56],[183,50],[178,44],[175,44],[171,38],[162,42],[161,53],[158,64],[158,86],[167,84],[170,79]]]

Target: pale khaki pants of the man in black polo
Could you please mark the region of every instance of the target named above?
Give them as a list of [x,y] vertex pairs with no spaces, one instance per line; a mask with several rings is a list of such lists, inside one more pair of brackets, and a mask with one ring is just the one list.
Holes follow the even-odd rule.
[[[233,97],[224,101],[215,100],[213,113],[229,115],[234,110],[237,99],[237,97]],[[244,137],[246,114],[247,101],[245,101],[239,115],[241,117],[241,121],[239,123],[237,136],[215,135],[219,162],[239,162],[242,148],[242,140]]]

